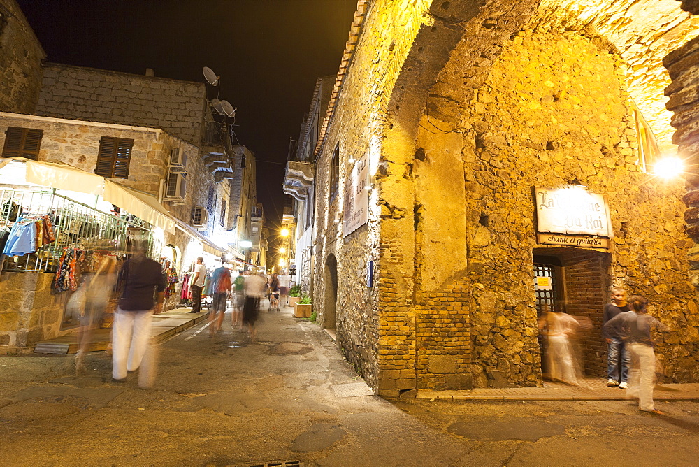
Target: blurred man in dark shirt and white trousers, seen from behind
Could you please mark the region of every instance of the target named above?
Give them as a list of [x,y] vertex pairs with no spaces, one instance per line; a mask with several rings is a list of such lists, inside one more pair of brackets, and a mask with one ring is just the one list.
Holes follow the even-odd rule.
[[[136,371],[150,340],[153,312],[162,310],[165,275],[156,261],[145,256],[145,244],[136,242],[131,258],[119,271],[122,287],[112,329],[112,380],[122,382],[127,371]],[[139,375],[139,385],[143,386]]]

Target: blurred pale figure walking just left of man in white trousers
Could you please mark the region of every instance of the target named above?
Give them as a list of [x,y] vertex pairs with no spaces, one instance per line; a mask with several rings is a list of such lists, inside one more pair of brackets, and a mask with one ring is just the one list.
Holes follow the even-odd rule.
[[[117,258],[113,254],[103,257],[94,275],[87,275],[84,289],[84,306],[79,310],[78,354],[75,355],[75,373],[85,373],[85,354],[89,350],[92,331],[101,323],[117,282]],[[76,294],[78,292],[75,292]]]

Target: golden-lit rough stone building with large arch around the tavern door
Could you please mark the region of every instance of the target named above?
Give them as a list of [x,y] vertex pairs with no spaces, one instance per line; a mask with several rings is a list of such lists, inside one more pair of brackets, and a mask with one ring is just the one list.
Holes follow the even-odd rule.
[[[380,394],[540,385],[536,255],[561,261],[565,310],[597,326],[582,336],[591,374],[601,308],[624,285],[670,326],[661,380],[699,379],[684,191],[642,170],[630,101],[672,148],[661,59],[696,19],[627,3],[376,1],[361,18],[319,146],[314,303],[321,322],[336,310],[338,345]],[[340,186],[366,153],[373,182],[368,223],[345,238],[336,144]],[[569,183],[608,196],[609,250],[537,243],[533,187]]]

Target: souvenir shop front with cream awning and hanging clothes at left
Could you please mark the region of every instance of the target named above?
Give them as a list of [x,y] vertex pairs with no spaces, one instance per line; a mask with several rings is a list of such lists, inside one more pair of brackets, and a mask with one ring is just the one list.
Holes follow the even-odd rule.
[[148,206],[150,195],[110,184],[62,164],[0,162],[0,350],[73,331],[66,303],[82,278],[107,256],[121,261],[135,240],[147,241],[175,295],[177,257],[164,254],[173,218]]

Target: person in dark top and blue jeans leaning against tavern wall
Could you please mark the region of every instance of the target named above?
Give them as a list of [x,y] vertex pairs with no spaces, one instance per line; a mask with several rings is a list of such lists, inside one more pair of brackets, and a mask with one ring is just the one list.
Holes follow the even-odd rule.
[[[626,303],[626,290],[621,287],[612,288],[612,303],[607,303],[602,317],[602,326],[607,321],[619,315],[619,313],[630,311],[631,308]],[[628,389],[628,368],[631,364],[631,357],[624,345],[624,341],[619,336],[607,336],[607,386],[619,386],[620,389]],[[621,356],[621,365],[619,357]]]

